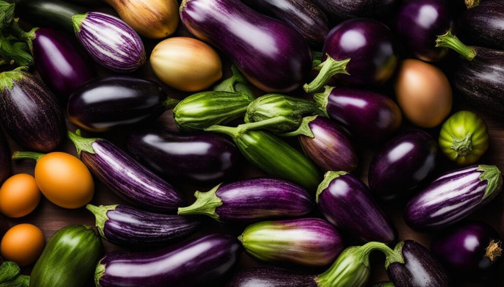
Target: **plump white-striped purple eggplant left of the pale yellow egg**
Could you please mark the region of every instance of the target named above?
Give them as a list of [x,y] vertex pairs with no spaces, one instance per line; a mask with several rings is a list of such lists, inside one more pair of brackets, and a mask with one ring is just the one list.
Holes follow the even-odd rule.
[[119,18],[101,12],[72,17],[77,39],[91,57],[117,72],[131,72],[145,63],[140,36]]

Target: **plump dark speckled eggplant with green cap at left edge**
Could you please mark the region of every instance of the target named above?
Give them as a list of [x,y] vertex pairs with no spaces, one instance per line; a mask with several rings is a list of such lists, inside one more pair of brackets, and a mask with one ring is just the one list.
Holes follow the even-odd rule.
[[56,97],[24,67],[0,73],[0,120],[12,139],[30,150],[54,150],[65,138]]

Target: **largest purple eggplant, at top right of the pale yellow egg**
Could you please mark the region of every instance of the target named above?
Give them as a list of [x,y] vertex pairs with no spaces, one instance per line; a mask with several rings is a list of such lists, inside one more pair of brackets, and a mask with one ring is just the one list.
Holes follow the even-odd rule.
[[303,36],[239,0],[183,0],[180,19],[196,37],[221,49],[262,90],[292,91],[309,76],[311,51]]

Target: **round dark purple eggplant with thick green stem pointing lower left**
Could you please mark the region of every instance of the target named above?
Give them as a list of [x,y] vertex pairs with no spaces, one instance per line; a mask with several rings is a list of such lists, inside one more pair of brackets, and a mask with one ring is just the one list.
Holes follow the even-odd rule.
[[393,35],[384,24],[367,18],[347,20],[334,27],[324,42],[319,75],[306,92],[319,90],[332,77],[346,84],[379,85],[394,73],[397,55]]

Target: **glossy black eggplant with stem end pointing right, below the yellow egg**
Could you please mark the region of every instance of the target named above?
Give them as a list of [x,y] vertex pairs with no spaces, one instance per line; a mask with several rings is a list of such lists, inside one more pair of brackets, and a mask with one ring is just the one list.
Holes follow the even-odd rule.
[[178,100],[168,98],[161,86],[132,76],[105,76],[87,81],[68,101],[68,118],[90,132],[150,122]]

